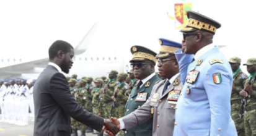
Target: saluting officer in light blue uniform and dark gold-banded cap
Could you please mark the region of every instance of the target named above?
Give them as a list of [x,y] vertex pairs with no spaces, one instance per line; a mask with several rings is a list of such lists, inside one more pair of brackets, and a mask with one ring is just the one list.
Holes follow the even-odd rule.
[[175,52],[184,86],[177,102],[174,136],[236,136],[231,117],[232,69],[213,44],[221,24],[194,11],[187,16],[188,23],[180,30],[185,53]]

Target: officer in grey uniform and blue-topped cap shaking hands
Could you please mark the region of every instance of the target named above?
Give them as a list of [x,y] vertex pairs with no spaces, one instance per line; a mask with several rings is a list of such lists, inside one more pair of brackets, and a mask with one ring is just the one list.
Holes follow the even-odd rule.
[[112,118],[113,122],[120,125],[120,129],[131,129],[153,117],[152,135],[172,136],[175,107],[182,89],[179,65],[174,51],[181,49],[182,45],[163,38],[160,38],[159,41],[161,49],[156,56],[157,66],[159,75],[164,80],[155,83],[151,96],[143,106],[118,120]]

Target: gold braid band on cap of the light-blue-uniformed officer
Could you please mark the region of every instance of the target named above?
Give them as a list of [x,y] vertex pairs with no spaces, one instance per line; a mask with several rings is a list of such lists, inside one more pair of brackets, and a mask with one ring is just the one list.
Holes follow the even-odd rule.
[[213,33],[216,32],[216,27],[214,27],[213,25],[210,25],[209,23],[204,23],[204,22],[201,22],[201,21],[195,20],[195,19],[189,19],[187,26],[198,28],[199,30],[201,30],[201,28],[203,28],[203,29],[208,30]]

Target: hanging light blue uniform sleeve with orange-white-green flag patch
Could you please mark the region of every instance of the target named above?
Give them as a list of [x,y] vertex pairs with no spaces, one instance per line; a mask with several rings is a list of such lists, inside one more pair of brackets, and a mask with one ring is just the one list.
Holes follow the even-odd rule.
[[[219,78],[218,80],[214,78]],[[206,74],[203,86],[208,96],[211,111],[210,136],[226,134],[231,119],[232,75],[223,64],[213,64]]]

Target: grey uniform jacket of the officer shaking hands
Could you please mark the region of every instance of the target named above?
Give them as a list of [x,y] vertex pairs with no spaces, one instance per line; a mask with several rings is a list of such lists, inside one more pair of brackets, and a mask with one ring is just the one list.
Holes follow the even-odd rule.
[[152,88],[151,96],[146,103],[144,103],[141,108],[136,109],[133,113],[122,117],[126,129],[131,129],[132,127],[135,127],[135,125],[141,124],[153,117],[152,135],[172,136],[177,100],[167,100],[167,98],[170,98],[171,93],[174,92],[174,90],[180,92],[183,84],[180,80],[180,76],[178,76],[163,94],[165,83],[166,80],[157,82]]

